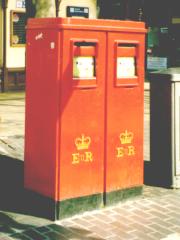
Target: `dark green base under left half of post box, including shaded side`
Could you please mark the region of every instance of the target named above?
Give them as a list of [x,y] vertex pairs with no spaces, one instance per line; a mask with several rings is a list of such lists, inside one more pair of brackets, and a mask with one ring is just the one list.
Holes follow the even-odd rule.
[[28,212],[52,221],[99,209],[103,206],[102,193],[58,202],[31,190],[27,190],[26,195],[26,209]]

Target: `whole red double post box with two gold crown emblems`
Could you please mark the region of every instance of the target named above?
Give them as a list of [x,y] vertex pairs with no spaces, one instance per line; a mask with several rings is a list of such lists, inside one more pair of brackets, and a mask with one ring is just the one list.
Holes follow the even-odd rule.
[[27,27],[25,187],[52,218],[143,185],[142,22],[31,19]]

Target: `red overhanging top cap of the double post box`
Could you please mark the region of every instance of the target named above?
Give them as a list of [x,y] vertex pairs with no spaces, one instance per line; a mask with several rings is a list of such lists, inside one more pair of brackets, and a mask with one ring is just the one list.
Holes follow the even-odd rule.
[[144,22],[80,19],[80,18],[31,18],[27,29],[79,29],[97,31],[146,32]]

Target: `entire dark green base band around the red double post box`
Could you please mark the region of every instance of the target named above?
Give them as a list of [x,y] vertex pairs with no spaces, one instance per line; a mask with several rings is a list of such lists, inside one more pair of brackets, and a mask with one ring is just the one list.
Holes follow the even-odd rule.
[[106,194],[94,194],[85,197],[72,198],[64,201],[54,201],[51,198],[42,196],[31,190],[27,190],[26,209],[32,215],[59,220],[80,214],[86,211],[100,209],[123,201],[130,197],[138,196],[142,193],[143,186],[136,186],[128,189],[108,192]]

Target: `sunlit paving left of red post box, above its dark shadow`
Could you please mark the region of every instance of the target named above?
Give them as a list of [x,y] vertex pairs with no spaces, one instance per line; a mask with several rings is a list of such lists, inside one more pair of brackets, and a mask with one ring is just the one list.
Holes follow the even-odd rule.
[[24,159],[25,93],[0,93],[0,154]]

